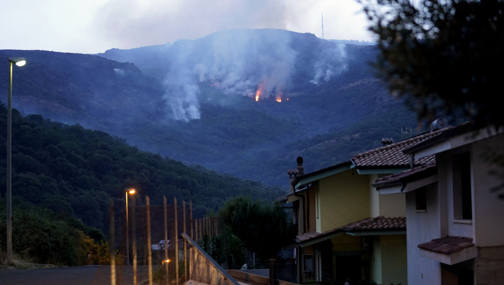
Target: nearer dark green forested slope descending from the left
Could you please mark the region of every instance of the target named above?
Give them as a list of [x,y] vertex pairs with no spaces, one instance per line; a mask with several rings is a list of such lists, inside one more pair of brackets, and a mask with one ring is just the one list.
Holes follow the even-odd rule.
[[[7,109],[2,104],[0,133],[7,133],[6,126]],[[189,167],[102,131],[52,122],[41,115],[23,117],[14,110],[12,134],[13,204],[43,206],[100,230],[107,229],[110,199],[118,201],[117,212],[124,207],[127,187],[138,189],[141,201],[149,196],[152,205],[162,204],[163,196],[192,201],[196,217],[216,211],[237,195],[272,201],[285,194],[279,187],[218,174],[203,166]],[[0,172],[6,173],[3,138]],[[5,198],[5,176],[0,189]]]

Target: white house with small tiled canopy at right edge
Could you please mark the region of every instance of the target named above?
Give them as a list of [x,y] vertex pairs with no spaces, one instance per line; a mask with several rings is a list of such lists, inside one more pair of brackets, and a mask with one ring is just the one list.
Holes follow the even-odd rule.
[[492,163],[504,129],[448,127],[403,153],[435,155],[373,183],[380,196],[405,195],[408,284],[504,284],[502,165]]

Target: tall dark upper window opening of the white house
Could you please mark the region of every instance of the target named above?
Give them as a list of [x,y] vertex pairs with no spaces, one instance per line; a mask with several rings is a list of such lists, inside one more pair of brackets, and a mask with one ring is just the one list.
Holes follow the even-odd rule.
[[471,156],[464,152],[453,156],[453,210],[455,219],[472,219]]

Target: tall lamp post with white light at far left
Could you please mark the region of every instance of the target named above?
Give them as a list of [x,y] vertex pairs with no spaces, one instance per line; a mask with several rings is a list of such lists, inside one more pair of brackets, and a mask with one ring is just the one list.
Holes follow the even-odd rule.
[[7,106],[7,264],[12,265],[12,64],[24,66],[24,58],[9,58],[9,99]]

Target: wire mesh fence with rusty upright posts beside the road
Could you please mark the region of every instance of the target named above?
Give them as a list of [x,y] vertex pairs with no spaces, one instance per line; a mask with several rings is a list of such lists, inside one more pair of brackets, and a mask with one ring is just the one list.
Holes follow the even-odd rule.
[[[109,239],[111,285],[119,284],[173,284],[180,285],[190,274],[191,246],[182,238],[192,241],[223,233],[218,217],[193,218],[192,202],[168,201],[150,205],[145,197],[143,205],[135,198],[124,211],[116,212],[110,202]],[[113,250],[112,250],[113,249]],[[133,280],[121,270],[132,270]]]

